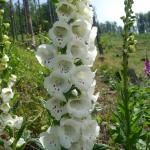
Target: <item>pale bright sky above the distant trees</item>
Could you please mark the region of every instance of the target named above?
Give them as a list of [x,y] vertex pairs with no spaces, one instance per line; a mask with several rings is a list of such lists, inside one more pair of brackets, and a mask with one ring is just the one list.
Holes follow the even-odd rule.
[[[40,0],[41,3],[46,1]],[[120,17],[124,15],[124,0],[92,0],[92,4],[99,22],[116,21],[118,25],[123,25]],[[134,0],[133,10],[135,13],[150,11],[150,0]]]

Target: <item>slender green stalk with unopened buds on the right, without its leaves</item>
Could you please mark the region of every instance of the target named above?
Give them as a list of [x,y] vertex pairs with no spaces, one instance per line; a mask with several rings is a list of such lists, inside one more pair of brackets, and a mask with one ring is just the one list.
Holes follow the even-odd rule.
[[131,27],[134,24],[134,16],[132,11],[132,4],[133,0],[125,0],[125,13],[126,16],[123,17],[124,22],[124,31],[123,31],[123,103],[125,107],[125,136],[126,136],[126,142],[125,142],[125,149],[131,150],[131,141],[130,141],[130,132],[131,132],[131,118],[130,118],[130,97],[129,97],[129,82],[128,82],[128,53],[131,52],[131,43],[134,45],[134,38],[131,41]]

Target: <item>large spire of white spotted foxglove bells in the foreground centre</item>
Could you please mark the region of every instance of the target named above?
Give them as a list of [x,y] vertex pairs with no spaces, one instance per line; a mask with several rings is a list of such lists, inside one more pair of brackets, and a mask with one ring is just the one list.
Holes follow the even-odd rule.
[[36,57],[51,70],[44,81],[51,96],[45,107],[57,124],[39,140],[47,150],[92,150],[99,126],[91,117],[98,93],[90,68],[97,55],[90,0],[59,0],[56,12],[58,21],[48,33],[52,44],[40,45]]

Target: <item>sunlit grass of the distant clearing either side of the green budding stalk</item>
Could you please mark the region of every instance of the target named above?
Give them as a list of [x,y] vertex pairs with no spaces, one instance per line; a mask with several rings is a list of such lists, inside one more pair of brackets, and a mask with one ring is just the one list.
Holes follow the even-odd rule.
[[[150,57],[150,34],[136,35],[137,45],[136,52],[129,55],[129,67],[133,68],[135,72],[143,77],[144,73],[144,62],[142,59],[145,58],[147,50],[148,56]],[[105,61],[101,63],[99,60],[96,61],[96,66],[107,64],[110,68],[120,69],[121,68],[121,51],[122,51],[122,37],[117,34],[104,34],[101,37],[102,45],[104,47]]]

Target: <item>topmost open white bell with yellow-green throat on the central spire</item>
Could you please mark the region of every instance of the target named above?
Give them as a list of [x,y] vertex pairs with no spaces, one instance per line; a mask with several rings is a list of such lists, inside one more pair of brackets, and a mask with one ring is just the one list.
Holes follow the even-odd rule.
[[75,7],[71,3],[63,1],[58,3],[56,13],[59,20],[68,22],[75,17]]

